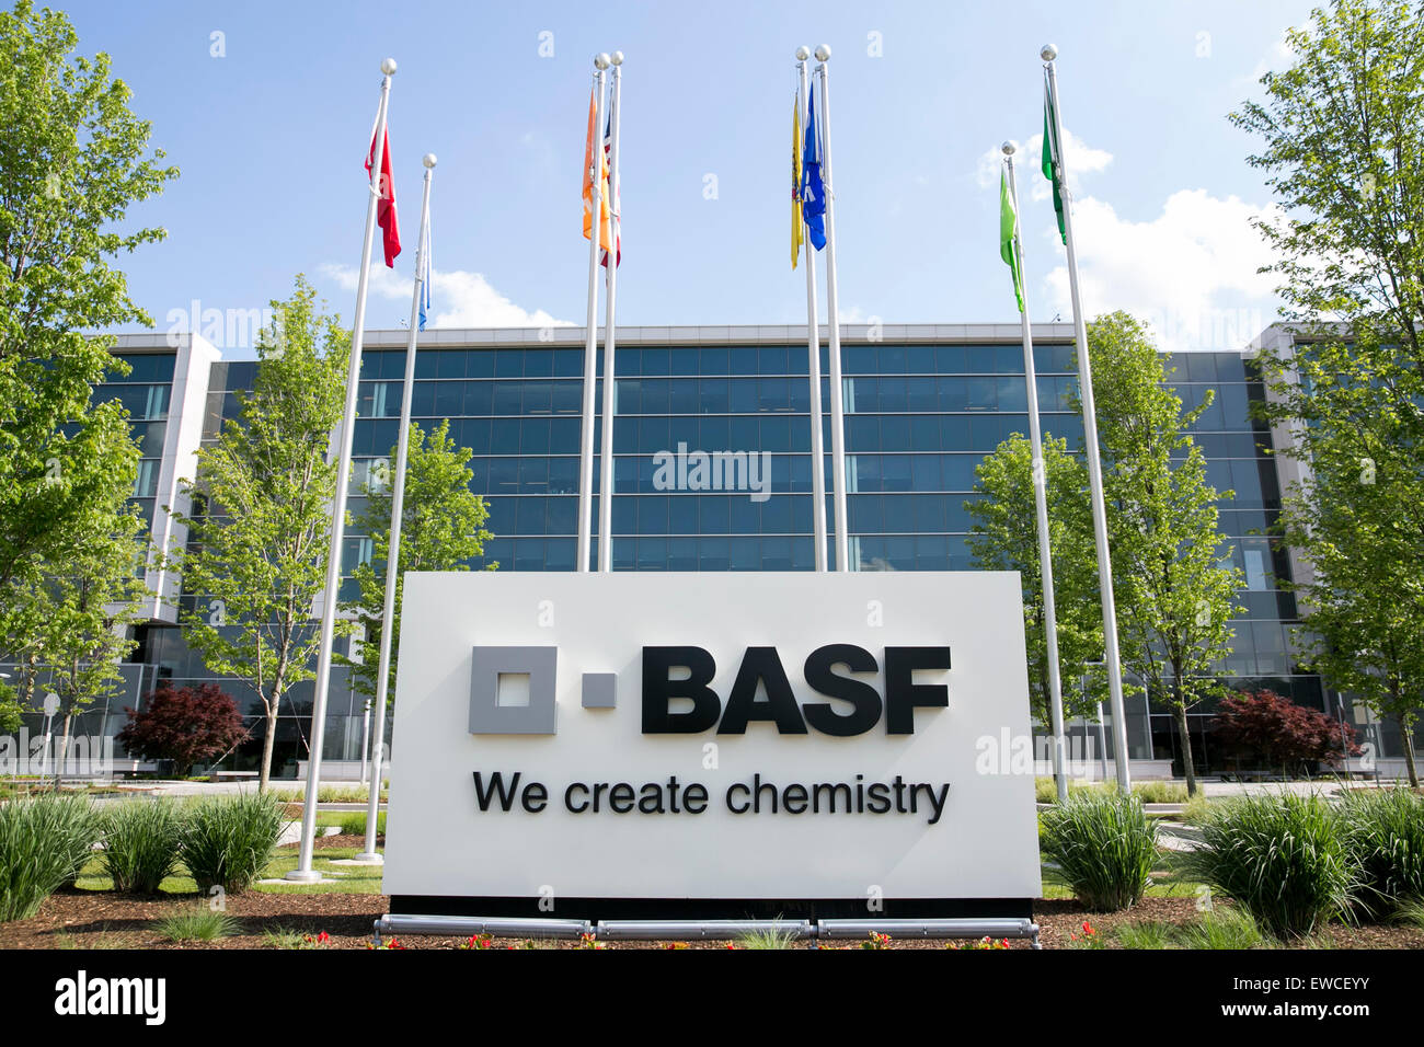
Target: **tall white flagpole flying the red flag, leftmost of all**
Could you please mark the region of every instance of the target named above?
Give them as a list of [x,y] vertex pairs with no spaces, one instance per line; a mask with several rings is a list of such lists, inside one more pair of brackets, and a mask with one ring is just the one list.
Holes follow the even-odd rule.
[[376,111],[376,135],[372,138],[370,201],[366,204],[366,238],[362,241],[360,276],[356,281],[356,316],[352,323],[350,363],[346,369],[346,409],[342,415],[340,453],[336,459],[336,494],[332,499],[332,544],[326,561],[326,595],[322,604],[320,645],[316,652],[316,688],[312,695],[312,742],[306,762],[306,805],[302,809],[302,848],[289,880],[310,883],[322,879],[312,869],[312,843],[316,836],[316,798],[320,792],[322,742],[326,735],[326,691],[332,682],[332,641],[336,634],[336,603],[342,584],[342,544],[346,537],[346,490],[352,472],[352,430],[356,429],[356,397],[360,392],[360,348],[366,339],[366,285],[370,281],[370,245],[376,234],[376,205],[380,202],[386,157],[386,111],[390,104],[390,77],[396,60],[380,63],[380,108]]

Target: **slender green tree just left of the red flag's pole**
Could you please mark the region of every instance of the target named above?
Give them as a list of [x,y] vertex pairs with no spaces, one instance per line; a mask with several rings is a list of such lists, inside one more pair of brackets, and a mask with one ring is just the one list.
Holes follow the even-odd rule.
[[[313,601],[326,581],[336,466],[326,462],[345,406],[349,333],[322,313],[305,278],[258,342],[241,419],[198,454],[188,548],[171,551],[191,594],[181,614],[206,667],[253,688],[266,712],[259,791],[272,776],[282,699],[316,674]],[[337,625],[345,631],[343,625]],[[322,729],[320,724],[312,726]]]

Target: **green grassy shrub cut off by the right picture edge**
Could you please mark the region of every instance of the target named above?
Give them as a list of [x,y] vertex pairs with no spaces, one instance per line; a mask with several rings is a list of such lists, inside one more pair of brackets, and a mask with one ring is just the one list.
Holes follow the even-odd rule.
[[1358,866],[1358,907],[1374,919],[1424,902],[1424,795],[1408,789],[1346,789],[1344,840]]

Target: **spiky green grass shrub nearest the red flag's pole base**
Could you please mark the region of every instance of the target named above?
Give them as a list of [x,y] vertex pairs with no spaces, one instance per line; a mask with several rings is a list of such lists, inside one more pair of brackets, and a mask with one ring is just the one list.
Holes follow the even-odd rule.
[[282,835],[282,805],[273,796],[245,793],[194,805],[184,826],[181,858],[198,890],[246,890]]

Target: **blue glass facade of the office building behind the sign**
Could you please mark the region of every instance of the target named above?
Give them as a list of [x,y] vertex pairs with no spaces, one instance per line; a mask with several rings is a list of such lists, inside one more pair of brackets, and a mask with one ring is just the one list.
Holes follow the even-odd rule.
[[[824,356],[822,349],[822,375],[827,370]],[[157,474],[172,356],[130,359],[134,372],[104,390],[130,407],[145,447],[145,467]],[[167,372],[159,373],[165,359]],[[494,538],[471,568],[497,563],[500,570],[574,570],[582,359],[581,343],[422,348],[414,420],[427,429],[450,420],[453,439],[473,452],[471,490],[490,506],[487,527]],[[1171,385],[1188,407],[1200,403],[1208,390],[1213,393],[1193,437],[1208,459],[1208,480],[1235,493],[1220,503],[1220,531],[1242,570],[1245,588],[1237,603],[1246,611],[1233,623],[1232,654],[1216,670],[1232,688],[1270,688],[1333,714],[1320,679],[1296,664],[1290,630],[1294,601],[1277,584],[1289,578],[1290,568],[1279,541],[1270,537],[1280,509],[1272,436],[1250,420],[1249,410],[1265,395],[1263,387],[1237,353],[1192,353],[1171,363],[1176,368]],[[1041,342],[1035,369],[1045,436],[1064,437],[1077,447],[1082,426],[1072,412],[1072,345]],[[625,345],[618,349],[617,373],[615,570],[812,570],[815,463],[805,343]],[[255,375],[252,362],[212,366],[205,443],[216,439],[225,419],[238,416],[238,393],[251,389]],[[363,355],[353,496],[373,464],[393,454],[403,375],[403,350],[377,346]],[[965,546],[974,467],[1001,440],[1028,427],[1017,336],[977,343],[846,343],[843,376],[852,570],[974,570]],[[601,403],[601,362],[598,386]],[[829,405],[824,377],[822,403]],[[820,469],[832,520],[829,419],[822,424],[826,456]],[[600,427],[601,422],[595,424],[595,449]],[[709,470],[721,473],[713,477],[721,483],[691,479],[699,453],[706,456],[703,462],[725,466]],[[685,470],[684,481],[669,483],[678,469]],[[597,481],[597,454],[594,473]],[[138,499],[145,497],[144,477],[141,470]],[[148,509],[151,513],[151,499]],[[359,516],[359,497],[350,509]],[[597,540],[594,546],[597,561]],[[833,563],[832,554],[827,550]],[[349,534],[346,574],[369,557],[369,538]],[[347,578],[343,595],[350,593]],[[174,682],[211,678],[177,627],[154,623],[142,634],[134,661],[155,667],[157,677]],[[235,681],[221,682],[249,718],[261,721],[255,694]],[[1065,681],[1065,687],[1072,685]],[[283,709],[278,769],[305,758],[310,704],[310,684],[305,684]],[[1166,709],[1146,697],[1128,705],[1134,759],[1175,761],[1180,772]],[[1219,755],[1205,732],[1213,711],[1203,704],[1190,715],[1193,755],[1202,771],[1219,769]],[[328,758],[360,758],[363,699],[342,670],[333,674],[325,731]],[[1078,722],[1071,734],[1094,744],[1098,726]],[[1380,751],[1387,752],[1387,745]],[[251,762],[255,754],[252,746],[242,759]]]

